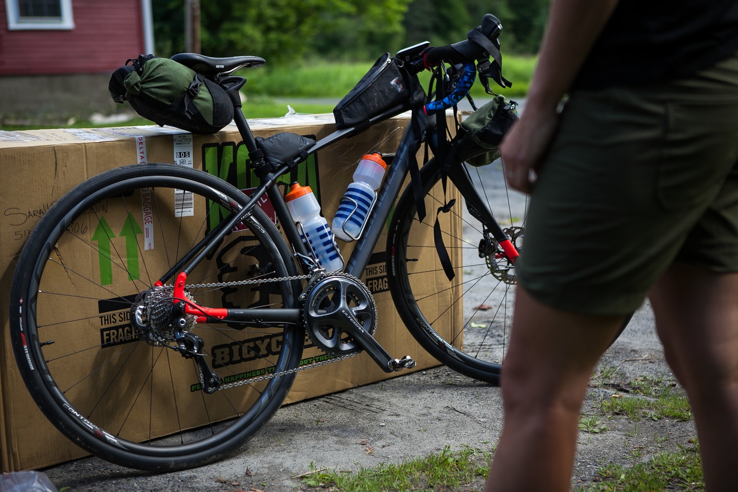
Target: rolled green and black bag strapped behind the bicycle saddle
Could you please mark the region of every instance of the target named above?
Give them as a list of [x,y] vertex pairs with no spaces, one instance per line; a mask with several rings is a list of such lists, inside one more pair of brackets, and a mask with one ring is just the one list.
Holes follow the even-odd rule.
[[157,125],[195,134],[214,134],[233,119],[233,103],[221,86],[169,58],[128,60],[113,72],[108,91]]

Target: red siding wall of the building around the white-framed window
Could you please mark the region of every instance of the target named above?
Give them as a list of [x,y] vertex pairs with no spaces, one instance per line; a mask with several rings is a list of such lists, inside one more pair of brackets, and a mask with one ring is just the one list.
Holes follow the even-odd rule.
[[144,51],[140,0],[72,0],[73,30],[8,30],[0,0],[0,75],[109,73]]

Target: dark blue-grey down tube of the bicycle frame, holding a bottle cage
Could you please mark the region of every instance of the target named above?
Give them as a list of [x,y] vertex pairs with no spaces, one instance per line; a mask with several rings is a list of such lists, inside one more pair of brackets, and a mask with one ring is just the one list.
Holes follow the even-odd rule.
[[419,143],[415,140],[413,131],[407,128],[405,134],[402,136],[402,141],[397,149],[392,165],[388,166],[387,178],[384,179],[382,188],[377,194],[376,205],[367,219],[368,224],[364,229],[364,234],[356,242],[354,252],[351,253],[346,268],[344,268],[345,273],[351,274],[356,278],[362,277],[364,268],[369,263],[369,257],[374,251],[374,246],[376,246],[379,236],[382,235],[384,224],[387,223],[387,218],[390,216],[395,199],[399,196],[405,176],[407,176],[407,162],[410,158],[410,153],[414,154],[417,152],[418,147]]

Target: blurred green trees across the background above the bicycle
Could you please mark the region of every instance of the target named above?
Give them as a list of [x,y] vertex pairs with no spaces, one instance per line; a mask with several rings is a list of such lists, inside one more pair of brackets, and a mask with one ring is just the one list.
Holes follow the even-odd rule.
[[[203,55],[255,55],[269,66],[303,55],[374,60],[430,41],[466,39],[486,13],[503,24],[503,53],[538,50],[551,0],[219,0],[200,2]],[[156,54],[184,51],[184,0],[153,3]]]

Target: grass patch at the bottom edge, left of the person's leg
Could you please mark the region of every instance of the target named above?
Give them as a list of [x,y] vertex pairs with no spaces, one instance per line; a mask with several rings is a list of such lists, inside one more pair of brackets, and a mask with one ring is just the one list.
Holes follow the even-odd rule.
[[481,484],[487,477],[491,461],[492,451],[469,446],[452,451],[446,446],[438,454],[399,465],[382,463],[373,468],[362,467],[356,473],[312,467],[314,471],[303,479],[303,483],[310,487],[332,487],[337,492],[458,490],[472,482]]

